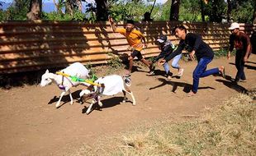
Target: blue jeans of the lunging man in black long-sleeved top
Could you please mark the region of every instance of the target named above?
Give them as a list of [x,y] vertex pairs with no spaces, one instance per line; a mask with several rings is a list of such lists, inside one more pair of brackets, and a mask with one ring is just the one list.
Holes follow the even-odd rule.
[[219,73],[219,68],[217,67],[206,71],[206,67],[211,61],[212,61],[212,58],[209,58],[209,57],[201,57],[201,59],[198,61],[197,67],[193,71],[193,85],[192,85],[193,93],[195,94],[197,93],[199,78]]

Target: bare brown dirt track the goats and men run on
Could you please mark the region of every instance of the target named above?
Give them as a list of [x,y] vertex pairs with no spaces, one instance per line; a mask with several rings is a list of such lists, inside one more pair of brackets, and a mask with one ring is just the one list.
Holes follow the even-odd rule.
[[[89,115],[85,114],[89,103],[70,105],[69,95],[64,96],[60,108],[55,108],[60,94],[55,85],[1,89],[0,155],[69,155],[81,145],[90,145],[102,136],[126,131],[141,122],[161,117],[199,116],[205,108],[256,87],[256,55],[246,63],[248,81],[238,85],[230,81],[236,73],[234,62],[235,57],[211,62],[208,69],[225,66],[226,79],[220,76],[201,79],[198,94],[193,97],[187,97],[187,91],[197,62],[181,62],[185,71],[180,79],[175,76],[177,71],[171,69],[174,76],[171,81],[161,76],[163,67],[157,68],[155,76],[147,76],[145,67],[138,68],[131,76],[136,106],[120,104],[122,94],[117,94],[104,97],[102,111],[93,110]],[[80,89],[72,89],[73,98],[78,98]]]

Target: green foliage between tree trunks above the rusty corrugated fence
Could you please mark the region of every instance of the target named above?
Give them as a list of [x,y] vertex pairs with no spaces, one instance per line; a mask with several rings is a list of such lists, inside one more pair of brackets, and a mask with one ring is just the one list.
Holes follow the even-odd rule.
[[[65,7],[64,0],[56,0],[59,3],[60,10]],[[83,0],[84,1],[84,0]],[[147,2],[151,2],[150,4]],[[109,15],[116,21],[123,21],[127,18],[132,18],[135,21],[142,21],[144,13],[150,11],[152,2],[134,1],[134,0],[108,0]],[[171,0],[168,0],[164,5],[156,4],[151,13],[151,18],[154,21],[168,21]],[[179,21],[201,21],[201,0],[181,0],[179,10]],[[250,23],[254,14],[255,0],[232,0],[231,2],[231,18],[237,22]],[[30,0],[14,0],[12,6],[6,11],[0,10],[0,21],[25,21],[26,13],[29,10]],[[63,12],[42,12],[42,20],[48,21],[96,21],[96,7],[91,3],[86,6],[88,9],[85,13],[73,11],[73,15]],[[206,21],[221,22],[223,16],[226,16],[227,2],[225,0],[209,0],[204,5]],[[76,7],[74,7],[76,8]],[[76,10],[76,9],[73,9]]]

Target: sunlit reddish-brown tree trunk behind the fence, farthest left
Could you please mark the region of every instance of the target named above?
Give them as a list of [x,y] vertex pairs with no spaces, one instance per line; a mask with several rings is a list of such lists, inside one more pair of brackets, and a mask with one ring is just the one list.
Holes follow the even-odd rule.
[[26,14],[27,20],[40,20],[42,11],[42,0],[31,0],[29,12]]

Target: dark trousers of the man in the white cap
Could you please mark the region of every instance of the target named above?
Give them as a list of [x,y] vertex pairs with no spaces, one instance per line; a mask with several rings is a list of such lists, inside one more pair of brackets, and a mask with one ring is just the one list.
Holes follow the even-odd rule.
[[245,74],[244,74],[244,55],[245,53],[243,51],[236,51],[235,53],[235,67],[237,69],[237,73],[235,76],[235,80],[246,80]]

